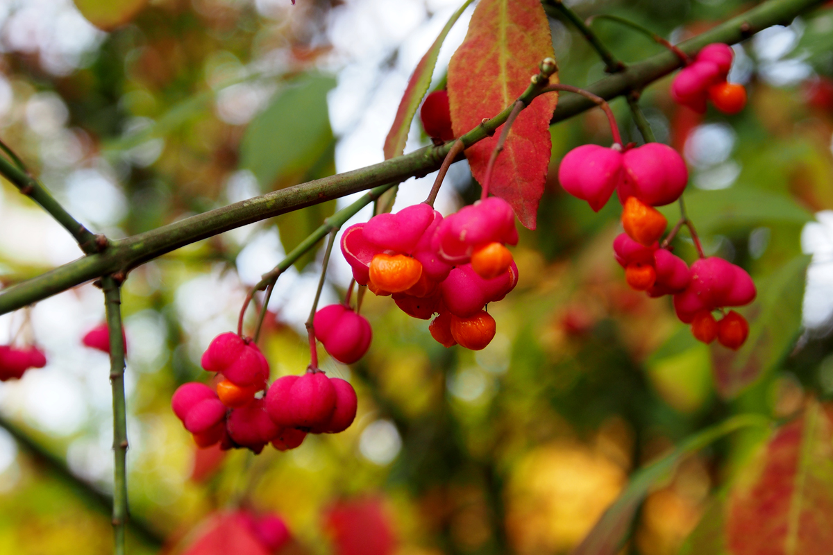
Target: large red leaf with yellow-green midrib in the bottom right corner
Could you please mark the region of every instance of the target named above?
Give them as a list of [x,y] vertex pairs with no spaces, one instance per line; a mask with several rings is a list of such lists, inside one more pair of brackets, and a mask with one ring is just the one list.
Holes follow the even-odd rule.
[[830,553],[833,422],[817,403],[781,427],[732,488],[726,508],[732,555]]

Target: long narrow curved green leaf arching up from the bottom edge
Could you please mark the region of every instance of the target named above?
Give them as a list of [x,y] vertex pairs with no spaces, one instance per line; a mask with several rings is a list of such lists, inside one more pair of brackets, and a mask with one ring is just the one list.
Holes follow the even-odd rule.
[[572,552],[572,555],[616,555],[626,542],[631,521],[642,500],[654,484],[671,477],[676,463],[691,453],[699,451],[726,434],[766,424],[766,419],[757,414],[740,414],[723,421],[686,439],[671,454],[637,471],[631,483],[610,508],[601,515],[586,538]]

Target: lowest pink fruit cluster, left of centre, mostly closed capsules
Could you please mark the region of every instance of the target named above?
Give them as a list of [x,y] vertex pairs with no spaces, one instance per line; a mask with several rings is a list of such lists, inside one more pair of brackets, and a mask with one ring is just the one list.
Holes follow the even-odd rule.
[[[174,414],[200,447],[249,448],[266,444],[285,451],[307,434],[335,434],[352,424],[357,398],[352,385],[311,368],[267,385],[269,364],[257,345],[231,332],[217,335],[202,355],[202,368],[222,375],[217,388],[191,382],[173,394]],[[265,394],[258,398],[259,392]]]

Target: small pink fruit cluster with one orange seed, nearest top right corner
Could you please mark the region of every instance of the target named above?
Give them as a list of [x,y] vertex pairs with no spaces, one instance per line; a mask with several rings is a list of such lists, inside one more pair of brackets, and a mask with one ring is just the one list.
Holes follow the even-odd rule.
[[694,62],[685,67],[671,83],[671,97],[683,106],[703,113],[706,100],[726,114],[736,114],[746,106],[743,85],[726,82],[732,58],[731,47],[716,42],[704,47]]

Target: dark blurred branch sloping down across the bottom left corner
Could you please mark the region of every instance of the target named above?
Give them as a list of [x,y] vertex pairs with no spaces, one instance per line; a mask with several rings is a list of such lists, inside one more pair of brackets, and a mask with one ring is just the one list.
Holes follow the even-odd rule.
[[[44,466],[49,468],[49,470],[55,474],[58,479],[67,483],[72,488],[73,492],[77,493],[79,497],[86,499],[87,502],[91,503],[94,508],[97,508],[102,513],[112,513],[112,497],[107,495],[107,493],[99,491],[92,483],[89,483],[82,478],[78,478],[70,471],[69,468],[67,468],[67,463],[63,460],[63,458],[43,447],[37,441],[32,439],[26,431],[18,427],[17,424],[13,424],[11,420],[8,420],[3,416],[0,416],[0,428],[5,429],[9,434],[11,434],[12,438],[17,441],[17,444],[24,448],[34,458],[37,458],[39,463],[42,463]],[[150,526],[148,526],[147,523],[138,518],[131,518],[130,522],[127,524],[133,533],[152,546],[158,547],[165,542],[165,538],[155,532]]]

